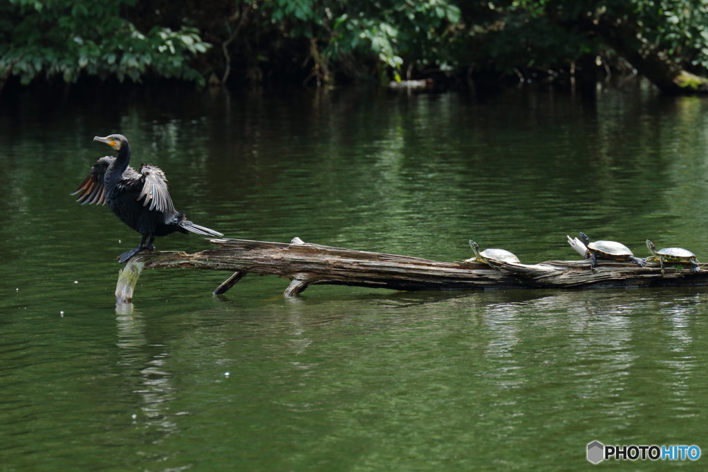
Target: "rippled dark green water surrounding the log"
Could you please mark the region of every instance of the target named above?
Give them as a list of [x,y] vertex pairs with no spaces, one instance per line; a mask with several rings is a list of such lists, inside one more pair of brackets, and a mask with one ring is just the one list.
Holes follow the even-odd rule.
[[115,256],[139,235],[68,195],[111,132],[230,237],[438,260],[474,238],[532,263],[577,258],[565,236],[582,230],[708,260],[704,98],[5,100],[2,470],[569,470],[594,439],[708,447],[705,288],[284,299],[287,280],[251,276],[212,297],[229,274],[147,270],[114,306]]

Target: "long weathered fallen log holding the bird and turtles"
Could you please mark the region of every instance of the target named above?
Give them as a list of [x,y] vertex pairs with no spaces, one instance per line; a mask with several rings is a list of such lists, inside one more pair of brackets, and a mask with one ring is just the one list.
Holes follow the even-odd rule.
[[[535,265],[477,261],[440,262],[405,255],[372,253],[304,243],[210,239],[216,245],[198,253],[144,251],[130,259],[119,278],[115,296],[119,303],[132,300],[143,268],[190,267],[234,272],[215,289],[223,294],[246,274],[270,274],[290,279],[285,297],[309,285],[335,284],[394,290],[464,290],[505,288],[635,287],[646,285],[708,284],[708,272],[692,273],[686,267],[661,275],[658,263],[637,267],[633,263],[587,260],[552,260]],[[673,267],[673,266],[670,266]],[[127,277],[130,275],[130,277]]]

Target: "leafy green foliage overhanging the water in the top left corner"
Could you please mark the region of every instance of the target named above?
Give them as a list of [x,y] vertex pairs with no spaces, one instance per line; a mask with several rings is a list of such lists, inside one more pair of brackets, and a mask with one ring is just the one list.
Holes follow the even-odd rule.
[[0,4],[0,77],[74,82],[81,74],[140,81],[148,73],[204,84],[190,57],[210,45],[198,30],[141,32],[120,15],[135,0],[9,0]]

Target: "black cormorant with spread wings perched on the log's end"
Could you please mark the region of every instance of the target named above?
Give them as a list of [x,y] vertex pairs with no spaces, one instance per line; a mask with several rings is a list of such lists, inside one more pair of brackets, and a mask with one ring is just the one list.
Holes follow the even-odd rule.
[[[108,144],[118,156],[98,159],[91,173],[71,195],[79,193],[76,199],[81,205],[86,203],[106,205],[118,215],[120,220],[142,234],[140,245],[120,255],[120,263],[125,263],[143,249],[153,250],[155,236],[167,236],[180,231],[202,236],[224,236],[219,231],[205,228],[185,219],[178,212],[167,191],[167,179],[161,169],[142,164],[139,171],[128,166],[130,144],[122,134],[94,137],[93,141]],[[147,241],[147,243],[146,243]]]

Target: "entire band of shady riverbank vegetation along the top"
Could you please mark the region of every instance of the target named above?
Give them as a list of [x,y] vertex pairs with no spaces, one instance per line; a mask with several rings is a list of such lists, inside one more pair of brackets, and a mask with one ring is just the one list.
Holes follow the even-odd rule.
[[433,79],[439,86],[639,74],[708,91],[708,0],[9,0],[0,86]]

